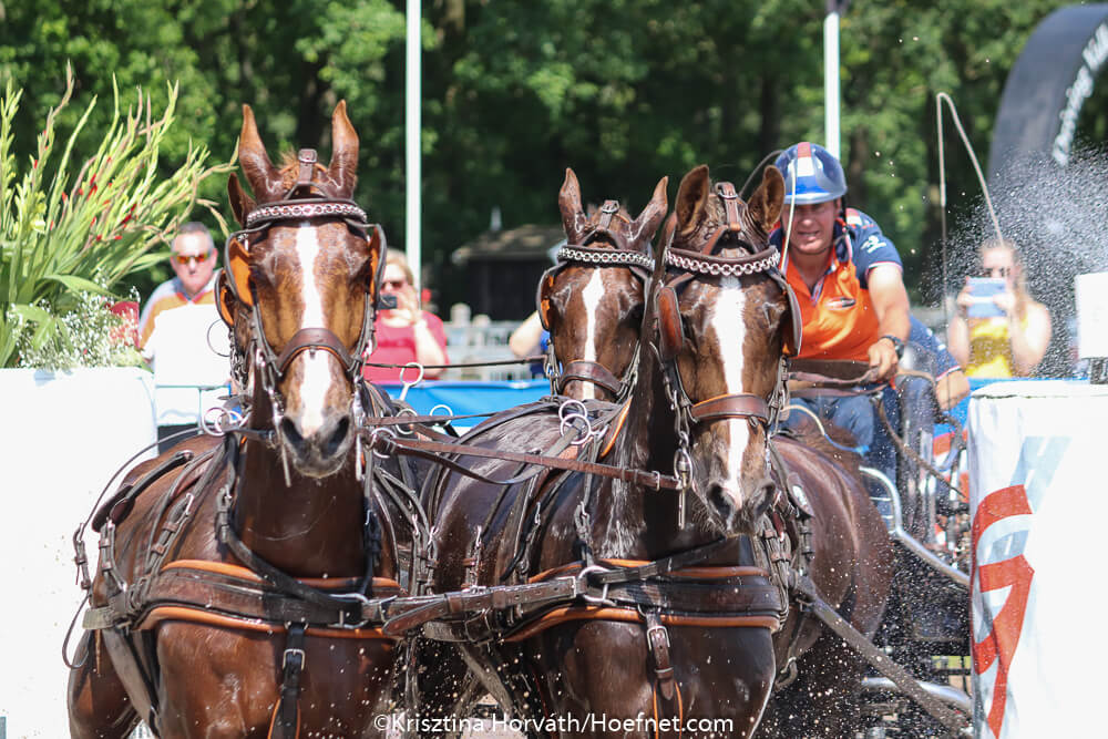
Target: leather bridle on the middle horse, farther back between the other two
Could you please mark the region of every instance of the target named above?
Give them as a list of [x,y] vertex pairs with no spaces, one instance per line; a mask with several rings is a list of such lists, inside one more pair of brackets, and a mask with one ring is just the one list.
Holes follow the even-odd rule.
[[[630,271],[643,284],[643,294],[649,291],[650,269],[654,267],[654,258],[649,255],[649,242],[647,249],[632,248],[624,234],[612,229],[612,219],[627,219],[619,215],[618,201],[605,201],[599,209],[597,224],[581,239],[579,244],[566,244],[556,255],[557,264],[547,269],[542,279],[538,280],[538,290],[535,302],[538,306],[538,318],[543,328],[553,332],[553,320],[551,316],[551,291],[558,274],[571,265],[585,267],[622,267]],[[608,239],[614,246],[593,246]],[[630,363],[624,371],[624,376],[618,378],[602,362],[589,359],[574,359],[562,363],[554,353],[554,341],[546,346],[546,359],[544,369],[551,381],[551,392],[562,394],[566,384],[571,381],[591,382],[612,394],[616,402],[623,402],[630,394],[632,389],[638,378],[639,348],[635,346],[635,355]]]

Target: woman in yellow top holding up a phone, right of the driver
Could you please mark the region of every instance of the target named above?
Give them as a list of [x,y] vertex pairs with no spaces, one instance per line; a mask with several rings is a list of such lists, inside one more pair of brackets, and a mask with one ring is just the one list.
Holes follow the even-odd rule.
[[970,316],[974,296],[967,278],[955,300],[957,312],[946,329],[951,353],[970,377],[1028,377],[1050,343],[1050,312],[1027,292],[1015,244],[1007,239],[985,242],[981,261],[982,277],[1004,279],[1004,290],[993,296],[1002,315]]

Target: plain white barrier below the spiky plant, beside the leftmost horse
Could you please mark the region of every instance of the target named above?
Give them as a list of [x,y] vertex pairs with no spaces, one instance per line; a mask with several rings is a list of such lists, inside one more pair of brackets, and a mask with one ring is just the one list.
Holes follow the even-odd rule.
[[[69,736],[61,650],[81,601],[71,536],[116,468],[156,440],[153,397],[150,372],[137,369],[0,370],[7,739]],[[95,537],[89,558],[95,567]]]

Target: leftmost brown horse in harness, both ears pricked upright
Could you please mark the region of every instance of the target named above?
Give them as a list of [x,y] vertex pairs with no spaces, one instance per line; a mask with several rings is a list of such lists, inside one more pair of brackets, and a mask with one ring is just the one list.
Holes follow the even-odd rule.
[[[246,420],[129,475],[103,511],[92,608],[70,679],[74,737],[370,736],[394,645],[389,511],[355,443],[372,394],[380,232],[351,201],[358,136],[339,103],[328,167],[278,170],[244,106],[232,175],[245,230],[227,246],[220,310]],[[376,610],[377,609],[377,610]]]

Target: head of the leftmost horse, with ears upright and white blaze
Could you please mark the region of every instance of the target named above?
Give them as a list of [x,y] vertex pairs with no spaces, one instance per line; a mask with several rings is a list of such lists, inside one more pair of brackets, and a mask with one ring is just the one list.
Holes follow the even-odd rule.
[[331,140],[327,167],[312,150],[276,167],[243,106],[239,161],[257,199],[230,175],[244,229],[227,242],[219,299],[236,350],[250,347],[254,421],[268,409],[281,452],[312,478],[349,459],[384,248],[380,228],[350,199],[358,135],[345,101],[335,109]]

